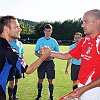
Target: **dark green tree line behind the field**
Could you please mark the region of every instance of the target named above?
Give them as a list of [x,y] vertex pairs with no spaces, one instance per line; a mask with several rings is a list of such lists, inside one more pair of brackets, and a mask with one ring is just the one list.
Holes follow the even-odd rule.
[[[38,39],[44,36],[43,27],[45,24],[49,23],[53,26],[52,37],[56,40],[73,40],[73,35],[76,32],[81,32],[83,34],[83,29],[81,28],[82,20],[65,20],[63,22],[55,21],[41,21],[33,22],[24,19],[18,19],[20,27],[22,28],[21,39]],[[83,34],[84,36],[84,34]]]

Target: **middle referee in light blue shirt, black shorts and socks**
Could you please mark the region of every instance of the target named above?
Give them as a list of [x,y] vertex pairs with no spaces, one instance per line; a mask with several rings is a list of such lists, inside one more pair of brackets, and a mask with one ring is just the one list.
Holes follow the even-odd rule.
[[[48,46],[52,51],[57,51],[59,52],[59,45],[57,43],[57,41],[51,37],[52,34],[52,26],[50,24],[46,24],[44,26],[44,37],[41,37],[40,39],[38,39],[37,43],[36,43],[36,47],[35,47],[35,55],[38,57],[41,57],[40,54],[40,49],[43,46]],[[55,64],[54,64],[54,58],[53,57],[48,57],[41,65],[40,67],[37,69],[38,72],[38,84],[37,84],[37,88],[38,88],[38,95],[36,100],[40,100],[41,98],[41,92],[42,92],[42,82],[45,78],[45,73],[47,75],[47,79],[48,79],[48,88],[49,88],[49,92],[50,92],[50,100],[53,100],[53,90],[54,90],[54,84],[53,84],[53,79],[55,78]]]

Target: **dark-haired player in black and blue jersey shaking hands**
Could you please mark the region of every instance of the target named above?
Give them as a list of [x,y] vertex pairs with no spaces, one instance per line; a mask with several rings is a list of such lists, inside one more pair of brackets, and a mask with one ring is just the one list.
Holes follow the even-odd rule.
[[28,66],[9,44],[10,41],[20,37],[21,31],[14,16],[0,18],[0,100],[6,100],[6,84],[12,67],[16,67],[20,72],[31,74],[50,55],[50,52],[47,52]]

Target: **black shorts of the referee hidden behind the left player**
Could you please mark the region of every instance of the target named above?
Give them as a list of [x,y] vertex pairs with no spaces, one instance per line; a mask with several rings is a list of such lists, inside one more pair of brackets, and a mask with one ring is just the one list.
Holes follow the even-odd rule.
[[8,76],[8,81],[14,81],[14,79],[19,79],[22,77],[22,74],[15,67],[12,67]]

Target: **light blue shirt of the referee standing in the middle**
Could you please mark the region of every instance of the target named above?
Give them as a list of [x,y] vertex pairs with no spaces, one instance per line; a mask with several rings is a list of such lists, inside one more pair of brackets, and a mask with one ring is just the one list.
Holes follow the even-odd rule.
[[[52,37],[50,37],[49,39],[46,39],[45,37],[41,37],[40,39],[38,39],[34,51],[39,52],[40,49],[44,46],[48,46],[52,51],[59,52],[59,45],[57,41]],[[53,60],[53,58],[51,60]]]

